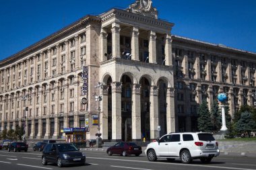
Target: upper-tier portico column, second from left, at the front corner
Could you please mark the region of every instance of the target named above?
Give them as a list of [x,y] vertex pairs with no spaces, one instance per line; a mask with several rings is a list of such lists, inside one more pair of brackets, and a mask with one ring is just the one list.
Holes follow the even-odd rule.
[[111,28],[112,32],[112,56],[120,57],[120,25],[114,22]]

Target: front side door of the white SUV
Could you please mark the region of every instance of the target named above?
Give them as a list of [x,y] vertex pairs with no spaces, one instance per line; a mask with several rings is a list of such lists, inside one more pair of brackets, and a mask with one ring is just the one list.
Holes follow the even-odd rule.
[[170,134],[167,134],[165,136],[162,136],[162,138],[160,138],[160,140],[158,141],[158,146],[157,146],[158,149],[156,151],[156,155],[160,157],[169,156],[169,152],[168,152],[169,140],[170,140]]

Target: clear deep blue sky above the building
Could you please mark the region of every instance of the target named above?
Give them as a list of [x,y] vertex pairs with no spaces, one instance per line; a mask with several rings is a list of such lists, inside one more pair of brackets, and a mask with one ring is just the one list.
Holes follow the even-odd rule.
[[[135,0],[0,0],[0,60],[85,15]],[[172,34],[256,52],[255,0],[153,0]]]

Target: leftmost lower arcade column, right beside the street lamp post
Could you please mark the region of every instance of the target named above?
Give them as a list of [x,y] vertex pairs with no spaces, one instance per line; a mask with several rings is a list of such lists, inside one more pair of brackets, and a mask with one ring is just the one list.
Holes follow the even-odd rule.
[[108,86],[103,85],[102,90],[102,101],[101,101],[101,114],[100,114],[100,133],[102,134],[102,139],[107,140],[108,139]]

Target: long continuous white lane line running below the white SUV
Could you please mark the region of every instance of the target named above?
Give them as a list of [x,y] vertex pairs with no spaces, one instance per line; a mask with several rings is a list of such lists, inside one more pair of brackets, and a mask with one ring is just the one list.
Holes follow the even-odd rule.
[[218,168],[218,169],[256,170],[256,169],[245,169],[245,168],[236,168],[236,167],[218,167],[218,166],[211,166],[211,165],[135,161],[135,160],[127,160],[127,159],[108,159],[108,158],[96,158],[96,157],[86,157],[86,158],[88,158],[88,159],[106,159],[106,160],[113,160],[113,161],[128,161],[128,162],[130,161],[130,162],[139,162],[139,163],[157,163],[157,164],[166,164],[166,165],[181,165],[181,166],[191,166],[191,167],[209,167],[209,168]]

